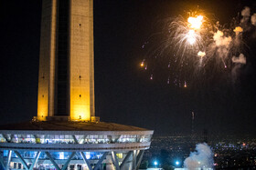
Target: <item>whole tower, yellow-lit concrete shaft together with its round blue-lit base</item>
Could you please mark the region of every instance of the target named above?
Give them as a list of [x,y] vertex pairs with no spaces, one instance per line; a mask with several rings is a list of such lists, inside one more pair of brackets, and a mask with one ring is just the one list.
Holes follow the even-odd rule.
[[95,116],[93,54],[93,0],[42,0],[37,116],[0,126],[0,169],[138,169],[154,132]]

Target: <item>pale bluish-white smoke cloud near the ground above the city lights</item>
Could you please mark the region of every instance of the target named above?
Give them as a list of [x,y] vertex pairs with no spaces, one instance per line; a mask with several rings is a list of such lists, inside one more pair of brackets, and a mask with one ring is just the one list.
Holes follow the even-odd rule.
[[184,166],[189,170],[212,168],[213,153],[210,147],[204,144],[197,144],[196,151],[190,153],[189,157],[185,159]]

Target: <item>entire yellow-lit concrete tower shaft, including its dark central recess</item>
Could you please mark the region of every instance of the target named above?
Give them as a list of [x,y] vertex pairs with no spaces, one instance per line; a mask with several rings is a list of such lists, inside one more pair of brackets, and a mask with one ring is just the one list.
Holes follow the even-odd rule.
[[94,116],[93,1],[43,0],[37,119]]

